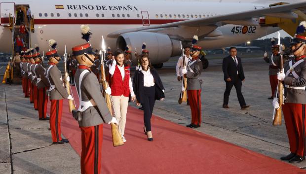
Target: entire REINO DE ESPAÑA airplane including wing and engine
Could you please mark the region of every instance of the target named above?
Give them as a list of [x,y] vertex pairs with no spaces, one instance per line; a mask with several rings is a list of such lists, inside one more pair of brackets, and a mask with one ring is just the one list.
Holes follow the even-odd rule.
[[[128,45],[132,55],[135,50],[140,52],[146,42],[152,64],[161,68],[169,58],[181,54],[180,41],[183,45],[191,44],[193,35],[198,35],[198,45],[206,50],[245,43],[281,30],[275,25],[264,25],[265,16],[290,19],[298,25],[295,11],[305,9],[306,2],[268,6],[263,3],[157,0],[2,1],[0,52],[12,51],[15,35],[8,27],[9,15],[15,17],[20,6],[31,9],[29,44],[32,47],[38,44],[40,50],[48,51],[48,40],[55,39],[57,50],[64,53],[65,45],[72,48],[84,42],[80,25],[89,24],[93,33],[90,43],[94,49],[101,49],[102,35],[113,51]],[[135,58],[132,63],[136,64]]]

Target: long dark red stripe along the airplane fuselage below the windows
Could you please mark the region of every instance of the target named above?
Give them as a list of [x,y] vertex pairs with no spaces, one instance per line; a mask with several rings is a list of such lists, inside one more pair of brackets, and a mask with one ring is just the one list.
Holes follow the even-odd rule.
[[[167,24],[184,20],[153,19],[150,24]],[[34,19],[35,24],[110,24],[110,25],[142,25],[142,19]]]

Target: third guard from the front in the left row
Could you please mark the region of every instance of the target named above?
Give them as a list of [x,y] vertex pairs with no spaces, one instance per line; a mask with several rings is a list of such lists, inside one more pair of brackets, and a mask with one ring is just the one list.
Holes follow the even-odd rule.
[[39,120],[49,120],[47,117],[47,89],[50,88],[50,83],[45,76],[45,69],[40,63],[43,59],[39,52],[35,54],[35,62],[38,62],[37,67],[35,68],[35,74],[37,77],[37,88],[38,88],[38,118]]

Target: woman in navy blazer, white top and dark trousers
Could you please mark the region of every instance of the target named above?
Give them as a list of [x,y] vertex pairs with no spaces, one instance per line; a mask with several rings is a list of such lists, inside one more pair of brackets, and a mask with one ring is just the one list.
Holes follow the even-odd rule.
[[136,95],[136,104],[144,108],[144,131],[149,141],[153,141],[151,131],[151,117],[155,100],[163,101],[165,98],[164,86],[155,69],[151,66],[148,54],[140,56],[139,70],[135,71],[133,88]]

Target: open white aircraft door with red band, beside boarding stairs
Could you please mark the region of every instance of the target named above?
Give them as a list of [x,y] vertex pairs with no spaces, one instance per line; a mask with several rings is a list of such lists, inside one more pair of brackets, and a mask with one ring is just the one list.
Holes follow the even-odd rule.
[[1,26],[9,25],[9,14],[15,17],[15,3],[14,2],[1,2],[0,3],[0,24]]

